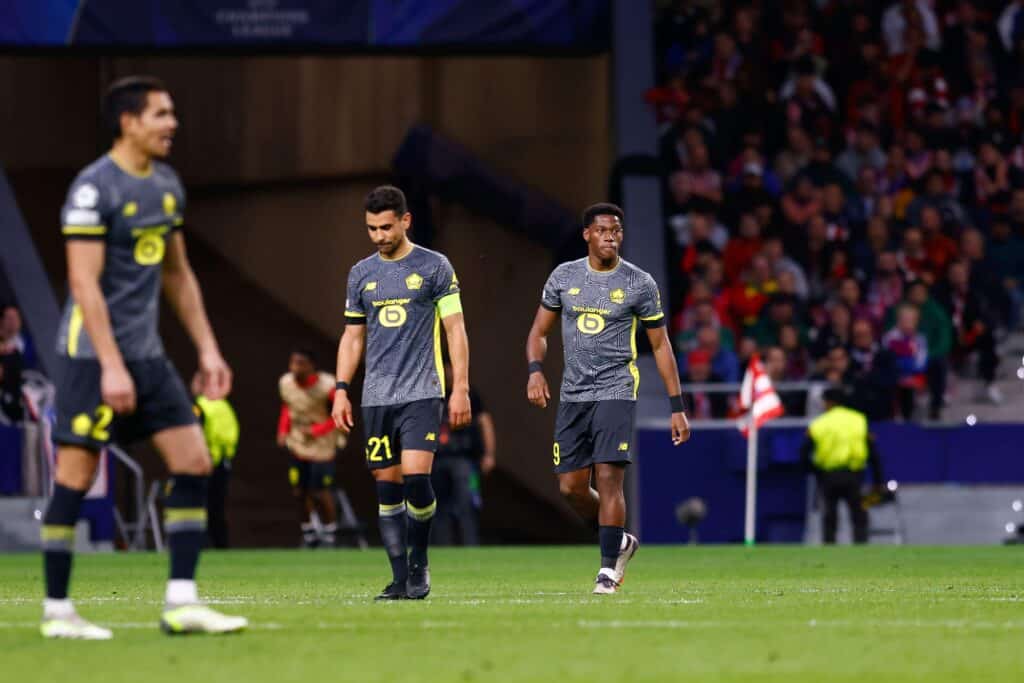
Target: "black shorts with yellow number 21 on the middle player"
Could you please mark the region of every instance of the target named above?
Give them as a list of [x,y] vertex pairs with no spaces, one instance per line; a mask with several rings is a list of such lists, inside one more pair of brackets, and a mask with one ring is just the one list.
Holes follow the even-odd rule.
[[382,470],[401,464],[402,451],[437,452],[444,401],[425,398],[395,405],[365,405],[367,467]]

